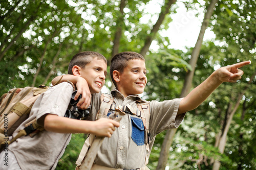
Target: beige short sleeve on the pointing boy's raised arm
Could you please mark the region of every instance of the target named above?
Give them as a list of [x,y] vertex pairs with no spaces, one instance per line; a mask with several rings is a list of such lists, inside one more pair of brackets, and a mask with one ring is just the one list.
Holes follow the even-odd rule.
[[177,115],[181,99],[150,102],[150,133],[156,136],[164,130],[178,128],[186,113]]

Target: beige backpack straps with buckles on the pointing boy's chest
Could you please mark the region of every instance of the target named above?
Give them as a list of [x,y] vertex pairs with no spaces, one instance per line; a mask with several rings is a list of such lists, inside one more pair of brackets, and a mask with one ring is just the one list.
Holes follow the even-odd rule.
[[[150,127],[150,106],[149,102],[139,101],[137,103],[137,108],[132,108],[131,105],[127,104],[126,106],[116,106],[114,102],[114,98],[111,98],[110,94],[102,93],[100,96],[100,108],[96,115],[96,120],[98,120],[101,117],[108,117],[108,115],[114,111],[120,111],[123,113],[129,113],[137,115],[138,117],[141,117],[143,125],[144,125],[144,133],[145,133],[145,144],[146,144],[146,158],[145,158],[145,165],[148,163],[148,158],[150,155],[150,133],[149,133],[149,127]],[[88,150],[90,148],[90,145],[92,144],[94,140],[93,135],[88,136],[86,141],[84,141],[83,147],[80,151],[80,154],[78,156],[78,159],[76,161],[76,170],[80,169],[85,156],[88,153]],[[82,170],[82,169],[81,169]]]

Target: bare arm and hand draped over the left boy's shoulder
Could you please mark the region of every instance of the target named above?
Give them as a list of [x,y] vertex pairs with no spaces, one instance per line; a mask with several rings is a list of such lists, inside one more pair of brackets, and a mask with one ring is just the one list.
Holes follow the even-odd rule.
[[82,77],[78,77],[78,76],[74,76],[74,75],[63,75],[63,76],[55,77],[52,80],[52,84],[55,84],[58,81],[60,81],[60,83],[71,81],[77,88],[75,100],[77,100],[78,96],[80,94],[82,94],[82,97],[81,97],[80,101],[77,103],[77,106],[80,109],[87,109],[89,107],[89,105],[91,104],[92,95],[91,95],[91,92],[90,92],[90,89],[89,89],[86,79],[83,79]]

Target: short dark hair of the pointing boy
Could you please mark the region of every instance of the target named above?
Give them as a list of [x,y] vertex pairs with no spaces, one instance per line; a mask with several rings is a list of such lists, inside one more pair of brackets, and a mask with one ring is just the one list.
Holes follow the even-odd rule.
[[115,86],[116,86],[116,82],[113,78],[113,71],[117,70],[119,72],[123,72],[124,67],[127,66],[127,62],[129,60],[135,60],[135,59],[145,61],[144,57],[141,54],[136,52],[122,52],[122,53],[116,54],[112,58],[110,63],[110,76]]

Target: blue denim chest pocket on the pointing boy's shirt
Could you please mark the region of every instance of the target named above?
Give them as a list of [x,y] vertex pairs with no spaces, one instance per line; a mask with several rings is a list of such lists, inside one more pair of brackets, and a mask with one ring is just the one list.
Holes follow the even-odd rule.
[[140,118],[131,117],[132,120],[132,139],[138,145],[144,145],[144,125]]

